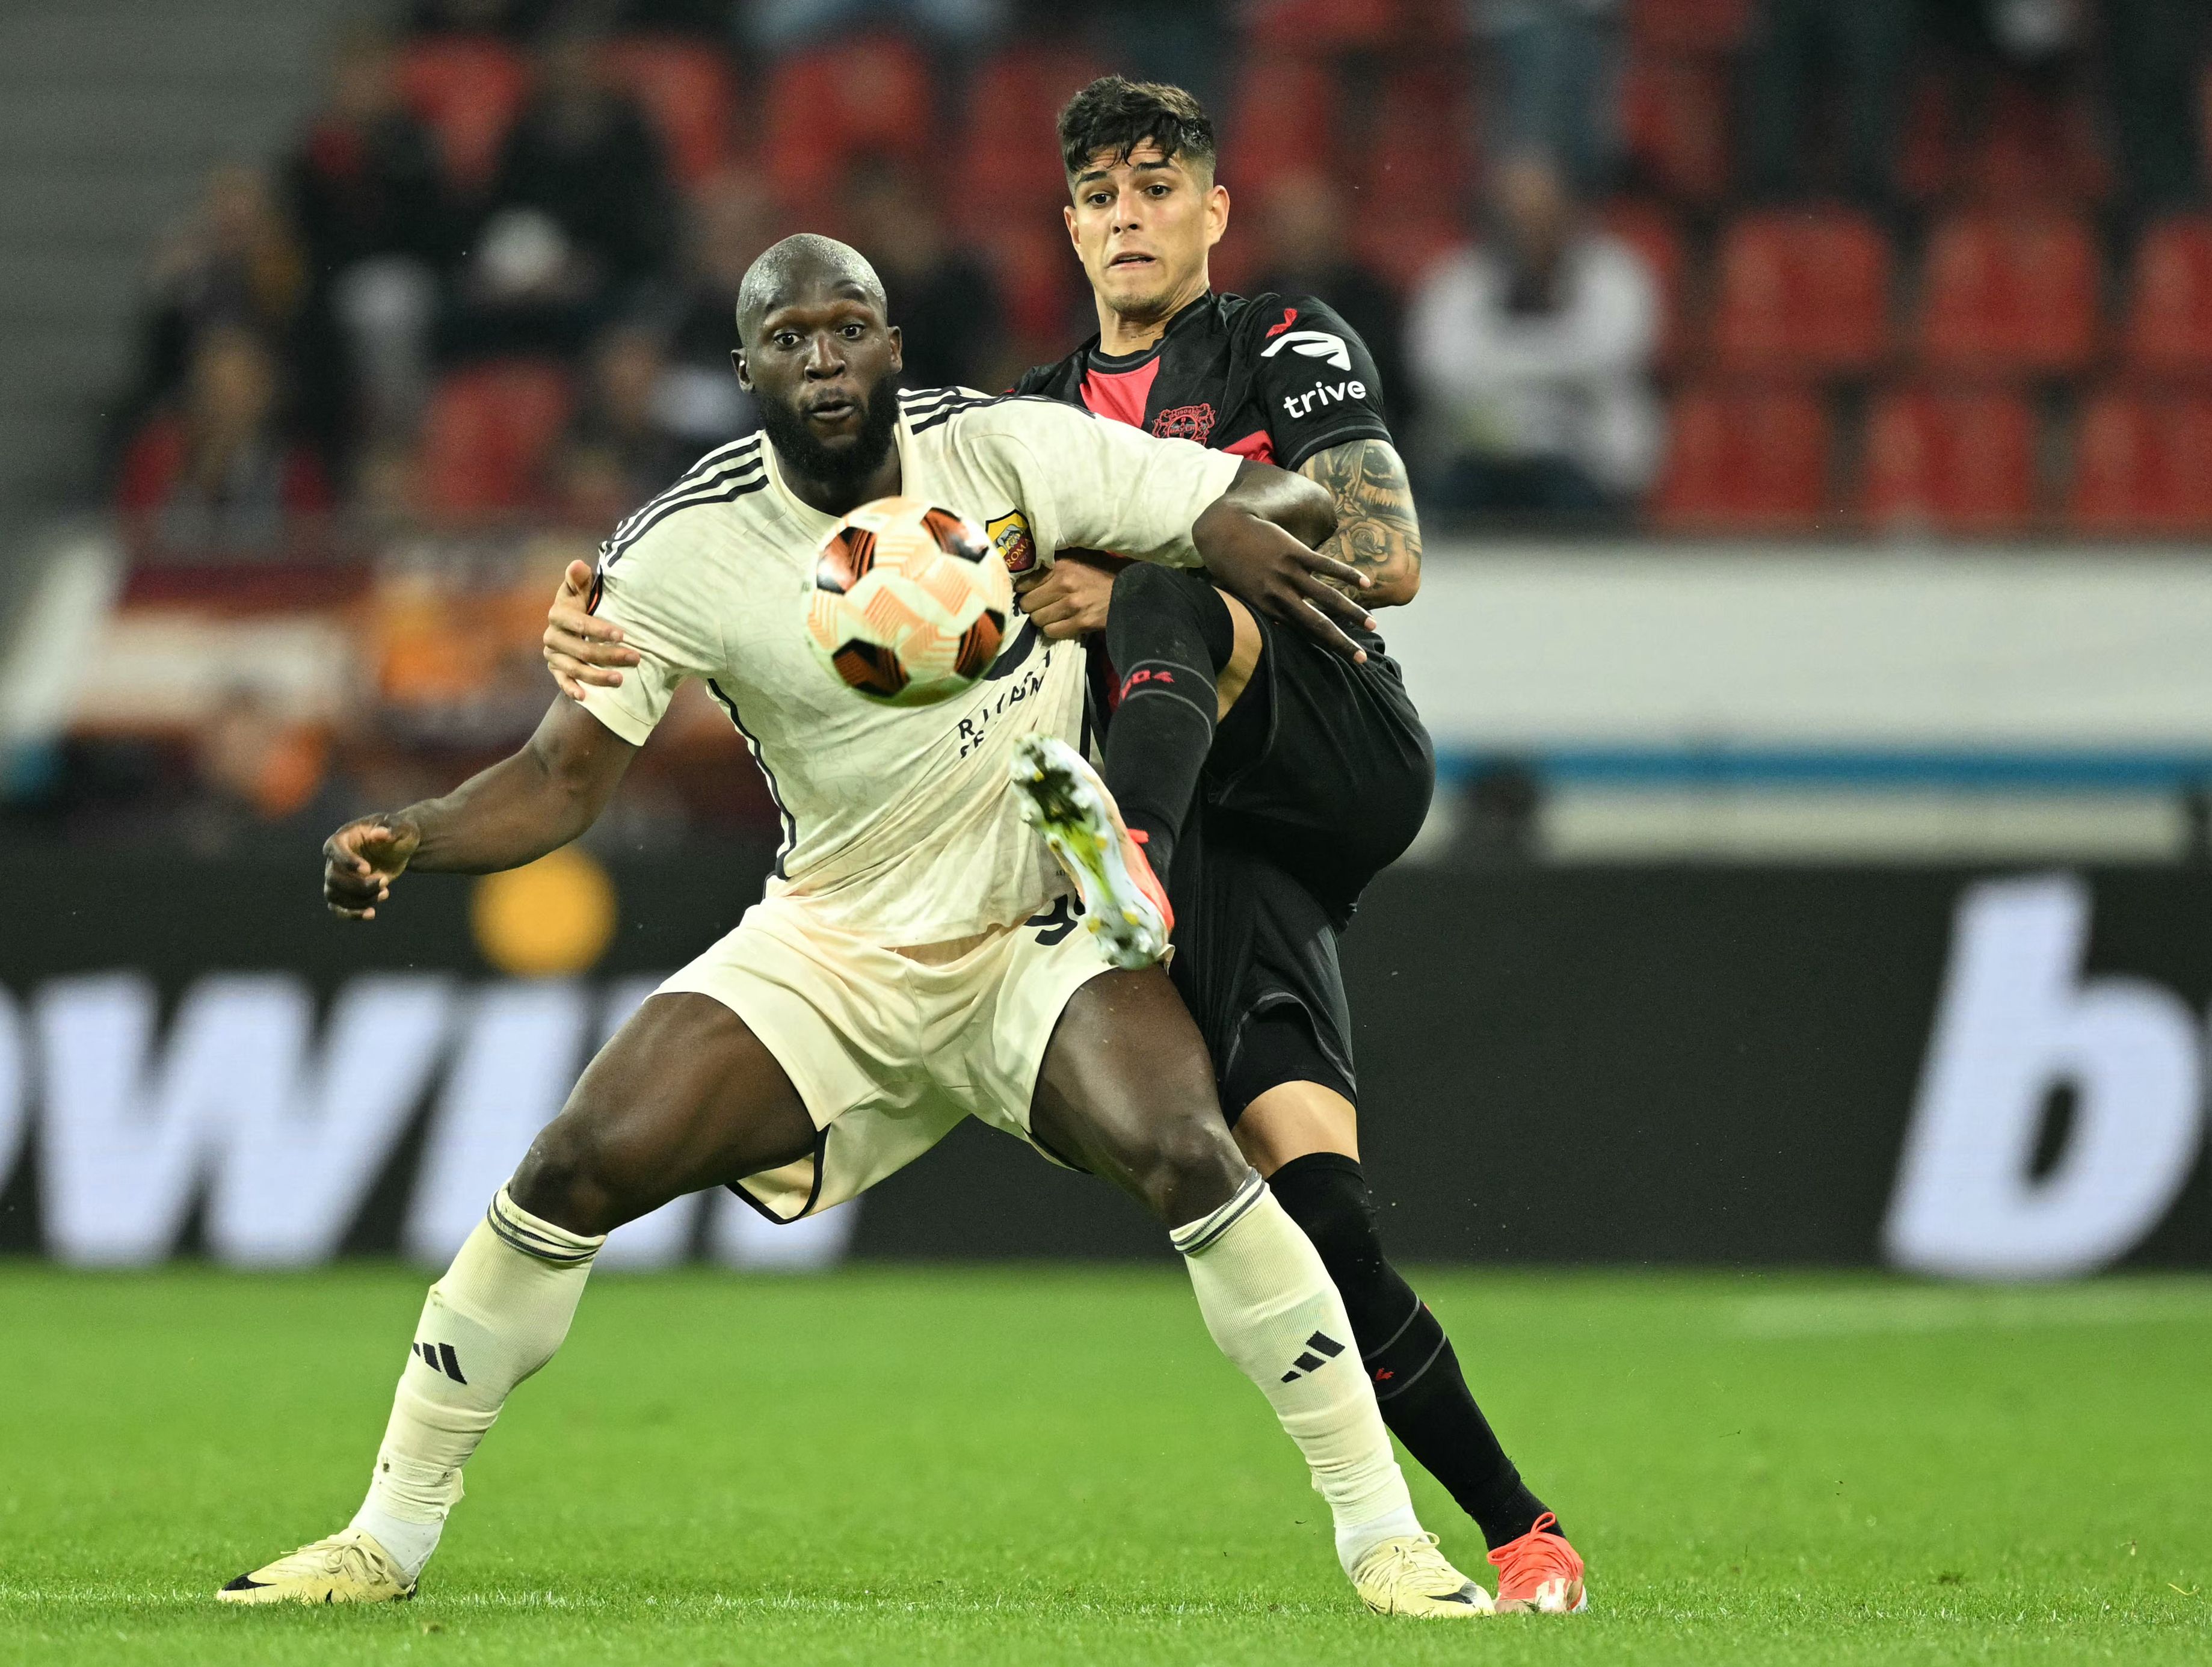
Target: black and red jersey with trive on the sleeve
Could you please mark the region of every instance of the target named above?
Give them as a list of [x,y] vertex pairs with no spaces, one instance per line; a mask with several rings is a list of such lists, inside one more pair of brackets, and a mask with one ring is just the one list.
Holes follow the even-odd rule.
[[1208,294],[1141,354],[1102,354],[1093,336],[1013,391],[1279,469],[1347,440],[1389,440],[1367,343],[1312,296]]

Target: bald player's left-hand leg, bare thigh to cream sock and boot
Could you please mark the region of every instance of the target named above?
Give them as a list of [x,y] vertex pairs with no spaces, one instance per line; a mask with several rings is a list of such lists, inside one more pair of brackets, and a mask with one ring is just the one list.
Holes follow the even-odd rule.
[[790,1077],[730,1008],[686,993],[646,1002],[429,1289],[354,1521],[219,1596],[414,1596],[460,1503],[462,1468],[513,1388],[568,1335],[606,1234],[686,1192],[812,1150],[814,1123]]

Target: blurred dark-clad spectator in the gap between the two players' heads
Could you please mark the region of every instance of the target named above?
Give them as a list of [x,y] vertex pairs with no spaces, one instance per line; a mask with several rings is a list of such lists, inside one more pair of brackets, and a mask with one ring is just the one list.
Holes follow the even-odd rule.
[[[854,248],[876,265],[905,334],[907,387],[1004,387],[991,274],[945,234],[938,199],[894,168],[863,168],[847,199]],[[1020,371],[1020,367],[1015,367]]]

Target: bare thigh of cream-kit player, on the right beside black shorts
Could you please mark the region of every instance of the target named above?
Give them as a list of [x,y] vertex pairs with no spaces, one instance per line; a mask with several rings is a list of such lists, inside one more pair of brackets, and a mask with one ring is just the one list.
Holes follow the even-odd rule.
[[1029,1128],[1168,1227],[1225,1205],[1248,1167],[1221,1121],[1199,1028],[1157,966],[1102,973],[1068,997],[1037,1068]]

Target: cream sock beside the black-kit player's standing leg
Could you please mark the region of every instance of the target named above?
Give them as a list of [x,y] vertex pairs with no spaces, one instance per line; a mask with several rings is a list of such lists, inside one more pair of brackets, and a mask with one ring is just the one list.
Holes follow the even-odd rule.
[[1259,1384],[1305,1453],[1314,1490],[1336,1519],[1345,1572],[1378,1541],[1418,1534],[1345,1300],[1259,1172],[1221,1209],[1170,1238],[1183,1251],[1214,1344]]

